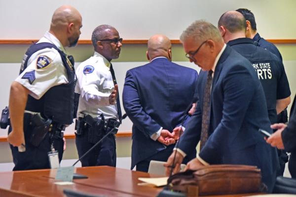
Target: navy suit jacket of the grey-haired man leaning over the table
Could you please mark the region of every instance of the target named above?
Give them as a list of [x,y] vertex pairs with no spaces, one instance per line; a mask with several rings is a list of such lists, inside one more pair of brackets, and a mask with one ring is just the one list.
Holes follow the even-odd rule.
[[[200,140],[207,74],[199,74],[197,108],[180,139],[185,153]],[[209,164],[257,165],[263,182],[272,188],[278,167],[276,150],[264,141],[259,128],[272,133],[257,73],[247,59],[226,46],[214,72],[209,138],[199,156]]]

